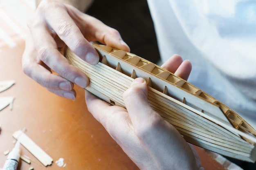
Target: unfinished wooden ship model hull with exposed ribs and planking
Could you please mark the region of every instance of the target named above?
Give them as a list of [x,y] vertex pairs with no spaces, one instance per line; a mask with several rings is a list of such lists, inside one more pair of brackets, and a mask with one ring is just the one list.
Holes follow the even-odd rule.
[[233,110],[184,79],[135,54],[93,44],[100,62],[91,65],[70,49],[70,63],[89,78],[85,89],[112,105],[125,107],[123,93],[133,79],[148,84],[150,106],[171,123],[184,139],[196,146],[228,157],[255,162],[256,131]]

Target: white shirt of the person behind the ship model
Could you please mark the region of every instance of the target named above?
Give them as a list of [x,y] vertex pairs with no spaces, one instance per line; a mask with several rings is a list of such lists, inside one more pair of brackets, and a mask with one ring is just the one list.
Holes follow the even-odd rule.
[[148,0],[160,55],[192,63],[188,81],[256,128],[256,1]]

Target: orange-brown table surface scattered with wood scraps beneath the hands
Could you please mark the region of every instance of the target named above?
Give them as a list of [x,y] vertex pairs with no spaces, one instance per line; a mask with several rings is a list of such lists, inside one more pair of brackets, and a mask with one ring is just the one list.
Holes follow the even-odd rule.
[[[31,166],[35,170],[63,169],[55,163],[59,158],[64,159],[66,169],[137,170],[137,166],[88,112],[82,88],[75,86],[75,101],[65,99],[50,93],[22,72],[24,48],[24,42],[20,42],[0,53],[0,81],[16,81],[11,88],[0,93],[0,97],[15,97],[12,110],[7,107],[0,111],[0,167],[7,158],[2,153],[14,146],[13,132],[26,128],[27,136],[54,161],[45,167],[21,146],[22,155],[30,157],[32,162],[29,165],[20,160],[19,170],[28,170]],[[204,150],[196,149],[207,170],[225,170]]]

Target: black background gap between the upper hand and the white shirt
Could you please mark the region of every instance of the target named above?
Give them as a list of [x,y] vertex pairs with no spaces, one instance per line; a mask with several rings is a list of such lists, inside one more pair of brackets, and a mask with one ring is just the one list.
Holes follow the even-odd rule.
[[157,64],[159,51],[147,0],[94,0],[86,13],[117,29],[131,53]]

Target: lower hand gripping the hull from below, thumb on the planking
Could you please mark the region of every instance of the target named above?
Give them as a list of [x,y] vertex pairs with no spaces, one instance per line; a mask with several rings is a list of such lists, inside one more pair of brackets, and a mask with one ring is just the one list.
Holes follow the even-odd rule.
[[[188,60],[173,55],[162,67],[187,79]],[[141,170],[198,170],[200,160],[180,133],[148,104],[146,81],[137,78],[124,93],[125,108],[110,106],[86,92],[92,115]]]

